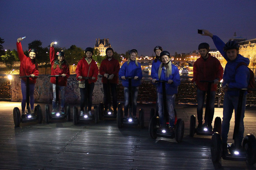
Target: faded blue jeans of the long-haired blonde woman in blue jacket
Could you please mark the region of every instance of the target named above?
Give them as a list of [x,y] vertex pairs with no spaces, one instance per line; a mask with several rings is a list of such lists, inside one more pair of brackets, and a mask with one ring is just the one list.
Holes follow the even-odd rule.
[[[158,113],[160,118],[160,124],[161,126],[165,126],[166,120],[164,118],[164,104],[163,104],[163,95],[158,93]],[[175,122],[175,114],[174,114],[174,105],[175,105],[175,94],[174,95],[166,95],[166,105],[167,105],[167,111],[169,113],[169,126],[174,127]]]

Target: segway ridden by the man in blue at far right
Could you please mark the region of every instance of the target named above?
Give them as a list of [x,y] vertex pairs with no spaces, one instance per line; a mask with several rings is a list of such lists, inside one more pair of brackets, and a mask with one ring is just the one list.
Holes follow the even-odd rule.
[[[241,112],[243,106],[243,95],[247,89],[241,89],[239,92],[239,101],[237,106],[237,115],[233,133],[234,143],[228,143],[228,153],[222,155],[222,139],[221,134],[215,132],[211,139],[211,155],[213,162],[219,162],[221,156],[224,160],[246,161],[253,165],[256,163],[256,138],[253,134],[247,134],[242,141],[242,148],[239,147],[238,131],[241,120]],[[250,89],[251,90],[251,89]],[[256,89],[252,89],[256,90]]]

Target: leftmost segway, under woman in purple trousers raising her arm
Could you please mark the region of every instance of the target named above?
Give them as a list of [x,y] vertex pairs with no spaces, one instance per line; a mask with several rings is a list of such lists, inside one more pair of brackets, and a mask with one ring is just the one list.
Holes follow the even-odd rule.
[[[26,77],[26,105],[27,105],[27,112],[23,115],[20,116],[20,110],[19,108],[15,107],[13,109],[13,120],[14,120],[14,125],[15,127],[19,127],[20,123],[27,123],[27,122],[38,122],[39,124],[42,123],[43,120],[43,115],[42,115],[42,110],[40,105],[36,105],[34,108],[34,113],[31,114],[30,111],[30,106],[29,106],[29,77],[28,76],[21,76],[19,78],[24,78]],[[38,77],[38,76],[34,76]]]

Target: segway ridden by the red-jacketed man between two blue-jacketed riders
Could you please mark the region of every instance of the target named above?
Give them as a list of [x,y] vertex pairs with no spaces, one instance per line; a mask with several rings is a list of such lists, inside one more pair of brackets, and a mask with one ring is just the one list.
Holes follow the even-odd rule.
[[[202,80],[200,82],[207,82],[208,83],[208,89],[207,89],[207,96],[206,96],[206,106],[205,106],[205,114],[204,114],[204,120],[205,125],[207,125],[207,121],[210,119],[210,93],[211,93],[211,85],[214,83],[214,81],[206,81]],[[196,116],[191,115],[190,116],[190,129],[189,129],[189,136],[193,137],[196,133],[197,135],[204,135],[204,136],[211,136],[214,132],[221,133],[221,118],[216,117],[214,121],[214,128],[208,128],[207,126],[202,126],[201,128],[196,128]]]

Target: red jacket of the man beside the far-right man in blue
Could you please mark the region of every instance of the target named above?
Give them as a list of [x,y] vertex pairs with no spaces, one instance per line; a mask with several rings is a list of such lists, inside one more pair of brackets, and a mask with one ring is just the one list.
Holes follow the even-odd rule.
[[[197,88],[202,91],[207,91],[208,83],[202,83],[201,80],[213,81],[214,79],[218,79],[219,81],[223,76],[223,67],[220,64],[220,61],[211,56],[208,53],[209,57],[204,60],[202,57],[198,58],[193,66],[193,79],[192,83],[195,81]],[[211,91],[216,91],[217,84],[212,84]]]

